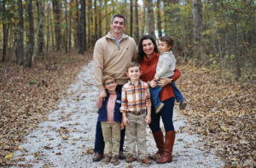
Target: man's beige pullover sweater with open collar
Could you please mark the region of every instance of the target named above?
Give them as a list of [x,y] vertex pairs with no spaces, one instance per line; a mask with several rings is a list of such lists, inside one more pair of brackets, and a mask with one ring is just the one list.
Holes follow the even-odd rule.
[[119,45],[110,32],[97,40],[93,53],[94,76],[99,90],[103,90],[102,77],[113,76],[119,85],[128,81],[126,65],[137,60],[136,42],[131,36],[122,35]]

